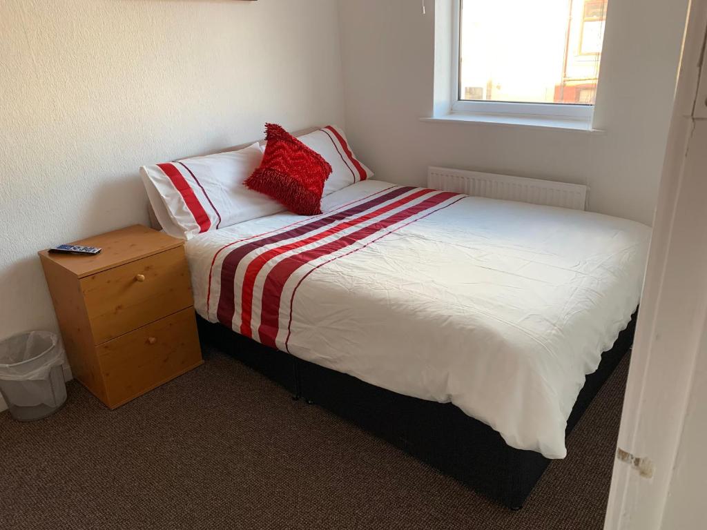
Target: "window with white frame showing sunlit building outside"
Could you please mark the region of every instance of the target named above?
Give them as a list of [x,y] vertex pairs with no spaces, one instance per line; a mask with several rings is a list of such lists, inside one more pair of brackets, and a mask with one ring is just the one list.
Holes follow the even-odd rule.
[[452,110],[591,117],[607,0],[457,0],[456,10]]

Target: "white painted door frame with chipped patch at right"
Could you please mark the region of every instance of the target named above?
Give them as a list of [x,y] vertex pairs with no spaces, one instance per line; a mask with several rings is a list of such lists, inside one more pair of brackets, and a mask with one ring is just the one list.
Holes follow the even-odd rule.
[[706,36],[707,0],[691,0],[605,530],[661,528],[703,338]]

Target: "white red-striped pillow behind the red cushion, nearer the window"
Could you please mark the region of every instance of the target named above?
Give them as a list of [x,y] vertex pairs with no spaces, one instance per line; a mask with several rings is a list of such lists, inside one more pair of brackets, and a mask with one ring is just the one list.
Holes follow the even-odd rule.
[[332,174],[324,184],[324,195],[338,192],[346,186],[373,177],[373,172],[354,155],[344,131],[329,125],[297,139],[317,151],[332,166]]

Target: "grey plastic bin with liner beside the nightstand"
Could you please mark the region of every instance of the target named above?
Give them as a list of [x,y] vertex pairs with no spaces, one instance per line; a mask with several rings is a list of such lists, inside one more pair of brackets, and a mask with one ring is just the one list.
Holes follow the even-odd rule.
[[13,418],[32,421],[66,401],[64,350],[49,331],[30,331],[0,341],[0,394]]

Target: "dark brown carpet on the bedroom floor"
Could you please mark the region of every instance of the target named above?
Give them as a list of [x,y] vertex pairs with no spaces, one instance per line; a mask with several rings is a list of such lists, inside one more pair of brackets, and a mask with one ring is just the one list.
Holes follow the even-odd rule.
[[108,411],[0,413],[0,529],[601,529],[627,359],[510,512],[216,351]]

